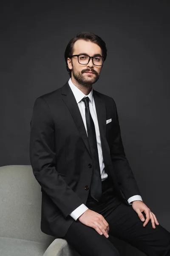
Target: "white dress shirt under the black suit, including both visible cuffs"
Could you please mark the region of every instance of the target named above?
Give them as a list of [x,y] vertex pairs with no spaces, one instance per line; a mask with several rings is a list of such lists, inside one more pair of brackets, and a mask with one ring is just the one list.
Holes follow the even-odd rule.
[[[94,121],[94,126],[95,126],[95,131],[96,131],[96,141],[97,141],[97,149],[98,149],[98,155],[99,155],[99,166],[100,166],[101,179],[103,181],[103,180],[107,179],[108,175],[105,172],[105,164],[103,163],[102,145],[101,145],[101,140],[100,140],[96,107],[95,107],[95,102],[94,102],[94,97],[93,97],[93,88],[91,89],[91,92],[88,95],[85,95],[81,90],[79,90],[79,88],[77,88],[73,84],[73,82],[71,81],[71,78],[69,79],[68,84],[71,87],[71,90],[74,94],[77,105],[79,107],[79,111],[81,113],[82,120],[84,122],[87,135],[88,135],[88,132],[87,132],[86,119],[85,119],[85,102],[83,102],[82,99],[86,96],[89,97],[89,109],[90,109],[91,117]],[[132,201],[136,201],[136,200],[142,201],[141,196],[134,195],[134,196],[130,197],[127,201],[129,204],[132,204]],[[79,218],[79,216],[82,215],[87,209],[88,209],[88,207],[86,207],[85,204],[81,204],[73,212],[70,213],[70,216],[72,218],[74,218],[74,220],[76,221],[77,218]]]

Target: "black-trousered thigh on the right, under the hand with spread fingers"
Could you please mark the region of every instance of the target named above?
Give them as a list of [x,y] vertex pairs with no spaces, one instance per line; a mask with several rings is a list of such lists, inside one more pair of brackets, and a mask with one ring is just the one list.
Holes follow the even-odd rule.
[[128,242],[146,255],[170,255],[170,233],[160,224],[153,229],[151,221],[143,227],[143,222],[131,206],[119,204],[105,219],[110,227],[110,235]]

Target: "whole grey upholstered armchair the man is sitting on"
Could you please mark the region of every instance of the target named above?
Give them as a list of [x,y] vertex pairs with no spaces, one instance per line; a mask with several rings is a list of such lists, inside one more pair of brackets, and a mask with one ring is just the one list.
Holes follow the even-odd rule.
[[0,167],[0,256],[79,256],[40,230],[41,189],[31,166]]

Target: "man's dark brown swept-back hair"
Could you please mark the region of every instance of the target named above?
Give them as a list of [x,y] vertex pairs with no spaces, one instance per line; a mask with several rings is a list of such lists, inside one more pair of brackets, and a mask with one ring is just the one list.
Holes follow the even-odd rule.
[[67,64],[67,58],[71,58],[71,55],[73,55],[73,50],[74,50],[74,44],[77,40],[79,39],[83,39],[85,41],[91,41],[95,44],[98,44],[99,47],[102,49],[102,56],[104,58],[104,61],[107,57],[107,48],[106,48],[106,44],[105,42],[102,40],[102,38],[100,38],[98,35],[95,35],[94,33],[90,33],[90,32],[80,32],[76,35],[76,37],[72,38],[70,40],[70,42],[68,43],[66,49],[65,49],[65,63],[66,63],[66,68],[67,71],[71,77],[71,70],[68,67]]

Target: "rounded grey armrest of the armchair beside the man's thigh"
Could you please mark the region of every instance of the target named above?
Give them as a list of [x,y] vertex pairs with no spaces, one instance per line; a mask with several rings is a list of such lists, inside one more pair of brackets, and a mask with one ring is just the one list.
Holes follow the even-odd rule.
[[65,239],[57,238],[48,246],[43,256],[79,256],[79,254]]

